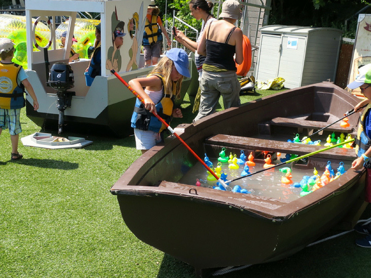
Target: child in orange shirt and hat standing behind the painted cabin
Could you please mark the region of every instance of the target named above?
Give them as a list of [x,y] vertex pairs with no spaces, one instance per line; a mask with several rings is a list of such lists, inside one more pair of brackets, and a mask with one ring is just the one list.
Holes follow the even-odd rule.
[[171,40],[162,25],[161,18],[158,16],[160,9],[154,0],[147,7],[147,16],[145,18],[145,26],[143,33],[143,53],[144,65],[146,67],[157,64],[161,54],[162,33],[167,39],[168,46],[171,46]]

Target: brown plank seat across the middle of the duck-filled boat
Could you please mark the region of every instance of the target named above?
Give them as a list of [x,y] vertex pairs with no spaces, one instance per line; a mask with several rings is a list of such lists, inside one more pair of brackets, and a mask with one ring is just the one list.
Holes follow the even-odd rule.
[[[229,153],[230,150],[233,150],[233,152],[237,154],[240,152],[240,150],[243,150],[246,156],[249,152],[255,153],[257,150],[305,155],[307,153],[312,153],[316,150],[326,148],[324,146],[307,145],[302,143],[289,143],[269,139],[224,134],[214,135],[205,140],[205,150],[210,157],[213,157],[211,154],[213,154],[214,157],[218,157],[218,154],[222,147],[226,148],[226,153]],[[237,156],[239,155],[237,154]],[[345,148],[333,148],[316,153],[312,156],[325,159],[331,157],[331,159],[350,161],[353,161],[355,158],[357,158],[354,149]]]

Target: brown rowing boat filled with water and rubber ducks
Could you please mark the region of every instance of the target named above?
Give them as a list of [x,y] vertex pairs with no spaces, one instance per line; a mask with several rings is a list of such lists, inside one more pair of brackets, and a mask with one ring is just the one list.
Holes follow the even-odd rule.
[[[222,147],[234,153],[255,152],[260,161],[263,151],[272,157],[276,152],[304,155],[324,147],[323,143],[309,146],[286,142],[298,132],[297,118],[307,115],[308,119],[334,122],[357,103],[356,97],[324,82],[263,97],[176,130],[198,155],[206,152],[210,158],[217,158]],[[353,135],[358,116],[354,113],[348,117],[352,127],[348,132]],[[279,117],[292,119],[296,125],[271,127],[270,133],[264,132],[262,127]],[[331,133],[325,129],[322,136],[311,139],[325,142]],[[309,156],[306,164],[295,167],[324,169],[328,160],[336,164],[354,158],[354,150],[333,148]],[[165,145],[155,146],[137,159],[111,192],[117,195],[126,225],[139,239],[193,265],[198,276],[204,268],[285,258],[346,216],[348,228],[352,228],[361,212],[363,171],[348,169],[322,188],[284,201],[179,183],[196,162],[178,140],[167,138]]]

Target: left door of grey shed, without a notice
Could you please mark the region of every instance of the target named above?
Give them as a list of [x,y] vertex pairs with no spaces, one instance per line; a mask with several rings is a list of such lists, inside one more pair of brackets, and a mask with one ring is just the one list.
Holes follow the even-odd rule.
[[265,82],[277,77],[282,36],[262,34],[256,80]]

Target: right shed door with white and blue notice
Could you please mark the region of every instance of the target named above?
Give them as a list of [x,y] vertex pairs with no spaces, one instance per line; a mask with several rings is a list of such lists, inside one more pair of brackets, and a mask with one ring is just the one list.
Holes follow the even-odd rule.
[[288,89],[301,86],[306,39],[304,36],[288,34],[282,37],[282,53],[277,76],[285,79],[284,85]]

